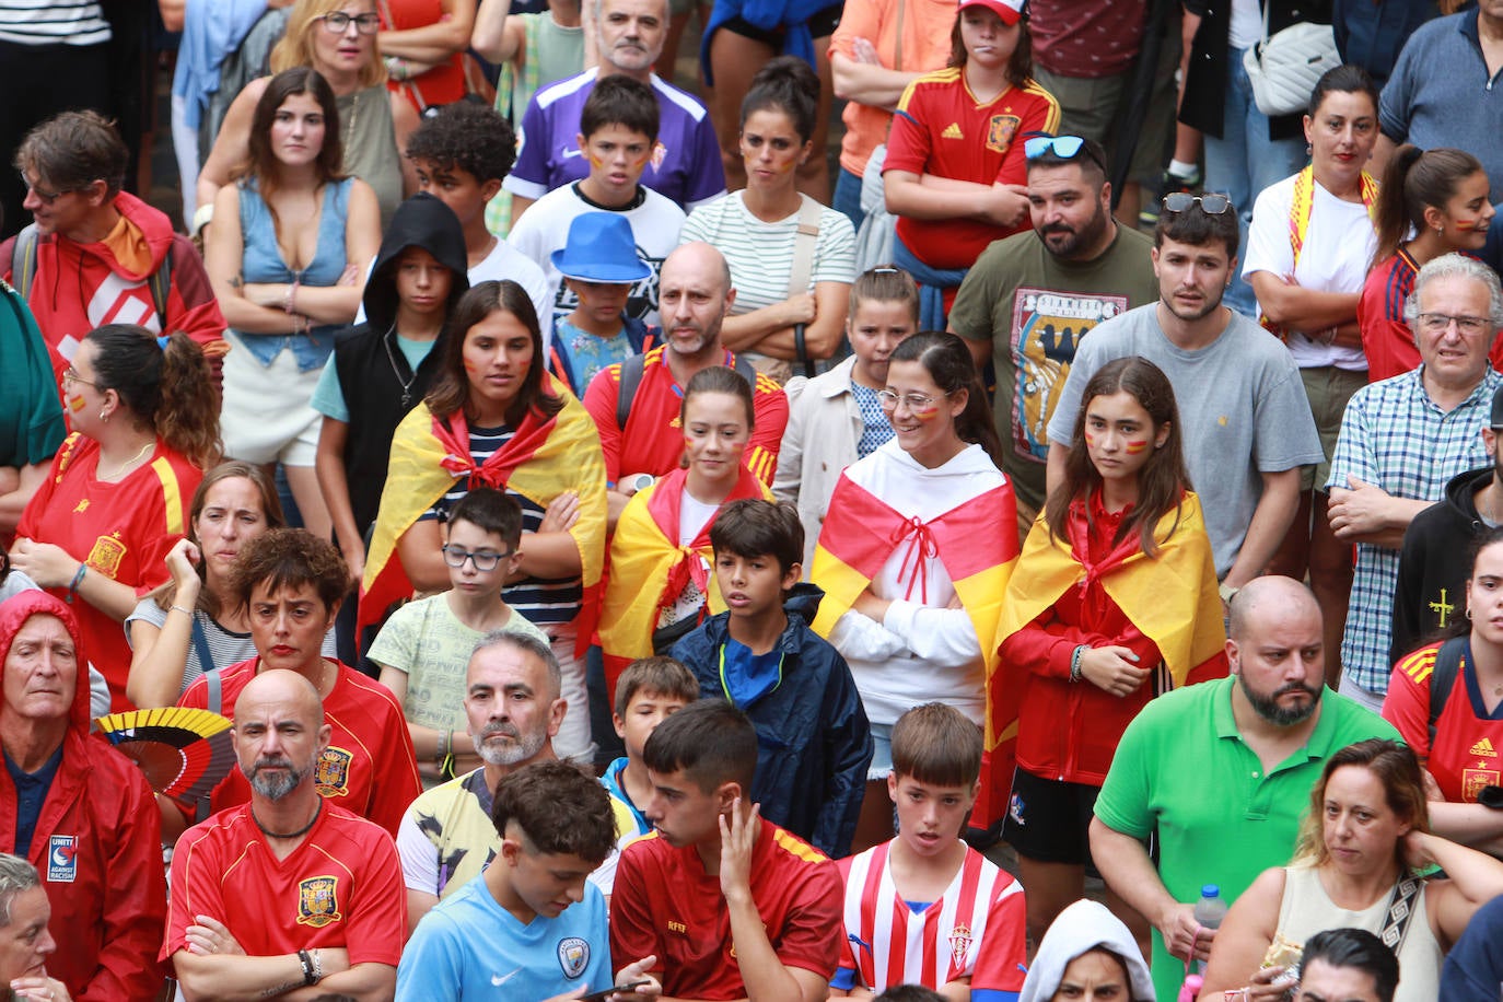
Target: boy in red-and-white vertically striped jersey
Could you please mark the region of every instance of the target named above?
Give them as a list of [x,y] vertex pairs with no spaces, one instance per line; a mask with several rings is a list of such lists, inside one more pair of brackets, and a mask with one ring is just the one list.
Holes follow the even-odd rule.
[[[1024,889],[960,840],[981,774],[981,732],[944,703],[893,726],[887,792],[899,835],[840,861],[845,949],[831,996],[923,984],[972,1002],[1015,1002],[1028,916]],[[960,996],[965,997],[965,996]]]

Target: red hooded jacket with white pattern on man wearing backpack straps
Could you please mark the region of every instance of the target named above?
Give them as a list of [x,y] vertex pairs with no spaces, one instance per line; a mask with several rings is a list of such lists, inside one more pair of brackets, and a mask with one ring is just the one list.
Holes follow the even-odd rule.
[[[149,279],[161,269],[168,248],[173,261],[165,333],[182,330],[207,355],[222,355],[224,314],[219,312],[219,302],[213,297],[209,275],[204,273],[203,260],[192,242],[174,233],[171,221],[162,212],[129,192],[116,195],[114,207],[125,216],[125,225],[143,251],[143,260],[149,257],[150,267],[132,269],[117,260],[105,242],[74,243],[57,233],[38,237],[36,275],[32,278],[27,305],[51,349],[56,376],[62,379],[78,344],[95,327],[137,323],[152,333],[164,333]],[[0,273],[12,284],[14,248],[15,237],[0,245]]]

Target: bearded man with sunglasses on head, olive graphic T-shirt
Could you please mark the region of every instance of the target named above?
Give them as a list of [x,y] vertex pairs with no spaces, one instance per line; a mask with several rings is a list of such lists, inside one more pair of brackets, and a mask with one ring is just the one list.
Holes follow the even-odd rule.
[[1043,508],[1046,430],[1081,340],[1096,324],[1159,297],[1153,242],[1112,218],[1106,153],[1078,135],[1036,135],[1028,159],[1033,228],[995,240],[960,282],[950,330],[992,362],[992,415],[1003,472],[1018,494],[1018,532]]

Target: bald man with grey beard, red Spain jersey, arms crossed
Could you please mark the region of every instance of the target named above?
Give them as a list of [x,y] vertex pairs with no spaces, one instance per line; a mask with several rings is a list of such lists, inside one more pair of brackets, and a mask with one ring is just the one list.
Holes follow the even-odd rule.
[[392,997],[406,940],[391,835],[320,796],[332,729],[314,685],[271,669],[230,732],[248,804],[189,828],[173,853],[162,960],[189,999],[323,993]]

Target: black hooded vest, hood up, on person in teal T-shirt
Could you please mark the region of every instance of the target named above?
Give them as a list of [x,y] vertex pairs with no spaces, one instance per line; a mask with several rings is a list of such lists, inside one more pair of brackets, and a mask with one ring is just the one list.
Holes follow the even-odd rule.
[[365,323],[341,330],[334,341],[335,373],[350,413],[344,476],[361,535],[376,521],[391,437],[433,386],[448,337],[445,324],[413,373],[395,330],[397,258],[409,246],[421,246],[452,273],[445,315],[454,314],[454,305],[469,290],[464,231],[454,212],[428,194],[401,203],[365,282]]

